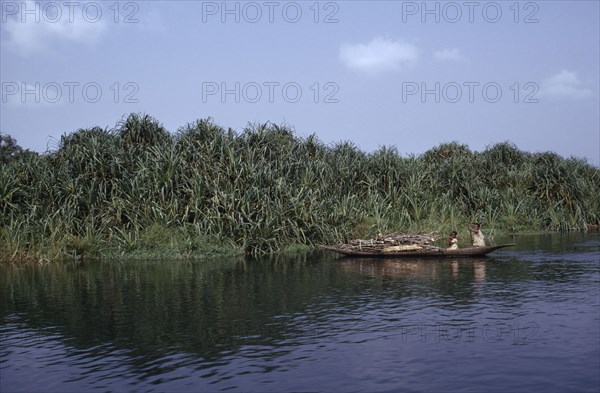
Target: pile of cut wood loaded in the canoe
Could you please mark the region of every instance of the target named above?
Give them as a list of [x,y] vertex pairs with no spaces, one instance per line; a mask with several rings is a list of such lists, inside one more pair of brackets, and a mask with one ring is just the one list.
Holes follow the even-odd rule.
[[436,241],[433,233],[402,234],[390,233],[379,235],[374,239],[354,239],[340,245],[345,249],[365,252],[416,251],[437,248],[432,243]]

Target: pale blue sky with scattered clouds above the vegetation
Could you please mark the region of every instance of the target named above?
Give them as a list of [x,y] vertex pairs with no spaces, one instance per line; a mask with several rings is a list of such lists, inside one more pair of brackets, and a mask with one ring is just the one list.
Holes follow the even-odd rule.
[[600,2],[0,0],[0,132],[56,149],[149,114],[422,154],[600,166]]

